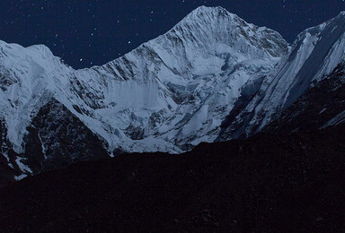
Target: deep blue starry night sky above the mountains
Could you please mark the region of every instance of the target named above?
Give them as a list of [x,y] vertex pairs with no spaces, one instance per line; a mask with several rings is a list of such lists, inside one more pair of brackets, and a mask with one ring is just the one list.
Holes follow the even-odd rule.
[[0,39],[44,44],[75,68],[105,64],[164,34],[199,5],[223,6],[292,42],[345,10],[344,0],[0,0]]

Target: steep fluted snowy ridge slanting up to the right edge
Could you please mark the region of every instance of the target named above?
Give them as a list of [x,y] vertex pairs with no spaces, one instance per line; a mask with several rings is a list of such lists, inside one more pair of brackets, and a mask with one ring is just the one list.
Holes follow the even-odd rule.
[[[255,134],[289,108],[305,91],[332,73],[345,55],[345,12],[303,31],[264,78],[252,99],[240,99],[218,140]],[[322,94],[322,92],[320,93]]]

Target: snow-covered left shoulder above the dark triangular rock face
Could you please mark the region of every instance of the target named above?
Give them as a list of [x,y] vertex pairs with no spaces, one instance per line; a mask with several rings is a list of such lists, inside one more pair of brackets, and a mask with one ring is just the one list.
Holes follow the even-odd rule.
[[22,152],[32,115],[46,103],[49,93],[62,91],[71,72],[48,47],[24,48],[0,41],[0,116],[15,151]]

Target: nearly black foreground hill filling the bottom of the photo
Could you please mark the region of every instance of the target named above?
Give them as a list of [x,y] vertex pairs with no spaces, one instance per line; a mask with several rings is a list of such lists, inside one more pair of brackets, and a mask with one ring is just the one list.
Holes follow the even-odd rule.
[[339,232],[345,126],[82,162],[0,191],[2,232]]

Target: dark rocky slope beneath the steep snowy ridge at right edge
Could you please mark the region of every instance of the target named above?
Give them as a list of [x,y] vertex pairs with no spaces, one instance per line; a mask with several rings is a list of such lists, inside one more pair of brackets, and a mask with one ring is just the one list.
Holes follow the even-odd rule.
[[333,70],[323,81],[305,91],[299,99],[284,110],[264,131],[283,134],[311,131],[345,120],[345,63]]

